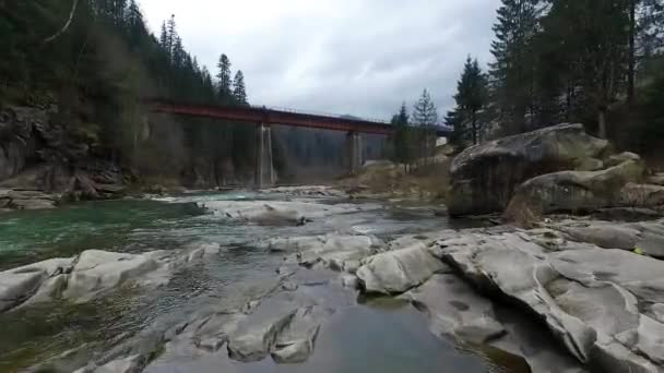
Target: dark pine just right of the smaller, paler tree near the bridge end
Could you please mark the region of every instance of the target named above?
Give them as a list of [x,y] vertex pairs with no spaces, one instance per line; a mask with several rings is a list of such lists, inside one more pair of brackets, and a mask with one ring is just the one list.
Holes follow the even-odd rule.
[[453,123],[458,127],[456,132],[470,135],[473,144],[478,144],[482,137],[484,125],[481,123],[479,112],[487,105],[487,80],[479,63],[469,56],[461,79],[456,83],[456,95],[454,95],[456,108]]

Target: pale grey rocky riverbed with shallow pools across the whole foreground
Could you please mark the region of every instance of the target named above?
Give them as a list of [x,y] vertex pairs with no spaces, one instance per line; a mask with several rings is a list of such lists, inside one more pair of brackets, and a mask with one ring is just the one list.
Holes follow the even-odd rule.
[[[447,218],[426,207],[340,196],[298,189],[173,198],[155,204],[201,210],[129,227],[120,246],[83,245],[71,257],[7,269],[0,320],[38,333],[0,337],[0,364],[662,371],[664,220],[552,217],[529,230],[446,229]],[[26,325],[44,323],[44,312],[46,330]]]

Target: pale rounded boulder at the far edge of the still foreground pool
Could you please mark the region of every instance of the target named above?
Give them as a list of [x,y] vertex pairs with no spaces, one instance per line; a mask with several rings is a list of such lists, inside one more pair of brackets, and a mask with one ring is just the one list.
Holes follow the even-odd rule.
[[369,293],[401,293],[449,268],[426,249],[406,248],[366,258],[357,270],[359,286]]

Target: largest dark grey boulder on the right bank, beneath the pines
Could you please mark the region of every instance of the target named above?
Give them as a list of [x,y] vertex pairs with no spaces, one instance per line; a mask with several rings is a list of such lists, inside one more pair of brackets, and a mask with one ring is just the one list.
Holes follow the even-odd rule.
[[502,210],[524,181],[576,169],[590,158],[603,158],[607,148],[607,141],[588,135],[582,124],[559,124],[472,146],[450,168],[450,215]]

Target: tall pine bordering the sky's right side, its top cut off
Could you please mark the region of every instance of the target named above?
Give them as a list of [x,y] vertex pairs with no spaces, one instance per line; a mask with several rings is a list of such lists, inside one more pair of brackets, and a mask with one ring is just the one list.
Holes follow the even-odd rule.
[[535,53],[542,0],[502,0],[498,9],[496,34],[491,43],[495,61],[490,64],[493,96],[503,124],[511,132],[527,130],[526,117],[534,110]]

